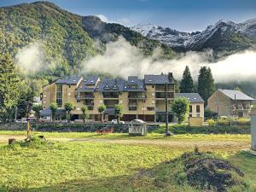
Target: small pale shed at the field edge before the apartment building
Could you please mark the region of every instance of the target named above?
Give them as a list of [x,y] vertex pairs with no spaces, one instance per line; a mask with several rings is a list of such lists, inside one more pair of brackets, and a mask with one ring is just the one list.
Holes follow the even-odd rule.
[[146,136],[148,133],[147,123],[141,119],[134,119],[129,123],[130,136]]

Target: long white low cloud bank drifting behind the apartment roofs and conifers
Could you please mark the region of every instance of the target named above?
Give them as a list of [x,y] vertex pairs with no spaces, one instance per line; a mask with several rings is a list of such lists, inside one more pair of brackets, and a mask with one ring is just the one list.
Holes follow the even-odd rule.
[[216,82],[255,79],[256,52],[246,50],[235,55],[225,57],[222,61],[212,60],[212,50],[205,52],[189,51],[177,59],[158,60],[160,50],[155,49],[152,56],[143,56],[137,47],[132,46],[125,38],[106,45],[103,55],[96,55],[82,63],[84,73],[98,71],[121,76],[125,79],[129,75],[143,78],[144,74],[174,73],[176,79],[181,79],[185,66],[189,66],[193,78],[196,80],[200,67],[211,67]]

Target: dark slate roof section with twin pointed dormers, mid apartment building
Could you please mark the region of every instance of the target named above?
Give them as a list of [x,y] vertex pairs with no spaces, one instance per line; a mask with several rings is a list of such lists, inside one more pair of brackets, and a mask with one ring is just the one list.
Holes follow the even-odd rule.
[[103,79],[99,85],[99,91],[113,92],[119,91],[122,92],[124,90],[125,81],[119,79]]

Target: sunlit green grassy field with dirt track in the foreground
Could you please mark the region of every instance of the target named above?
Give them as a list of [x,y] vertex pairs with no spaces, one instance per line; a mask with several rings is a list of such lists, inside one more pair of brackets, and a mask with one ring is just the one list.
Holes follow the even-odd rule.
[[22,139],[26,132],[0,131],[0,185],[12,191],[197,191],[178,184],[174,176],[179,167],[165,163],[196,144],[241,167],[249,191],[256,191],[256,157],[239,152],[249,148],[248,135],[33,134],[54,142],[49,147],[8,148],[9,137]]

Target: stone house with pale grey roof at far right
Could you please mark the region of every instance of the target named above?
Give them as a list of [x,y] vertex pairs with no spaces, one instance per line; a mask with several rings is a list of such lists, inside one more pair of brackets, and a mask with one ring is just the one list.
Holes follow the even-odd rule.
[[249,117],[254,99],[240,90],[216,90],[208,98],[207,108],[218,116]]

